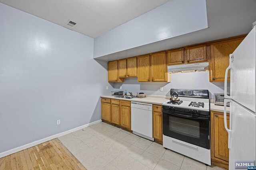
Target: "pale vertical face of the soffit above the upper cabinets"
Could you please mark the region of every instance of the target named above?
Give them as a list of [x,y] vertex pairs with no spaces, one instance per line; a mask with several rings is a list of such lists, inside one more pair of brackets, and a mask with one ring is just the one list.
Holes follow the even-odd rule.
[[94,58],[207,27],[206,0],[171,0],[95,38]]

